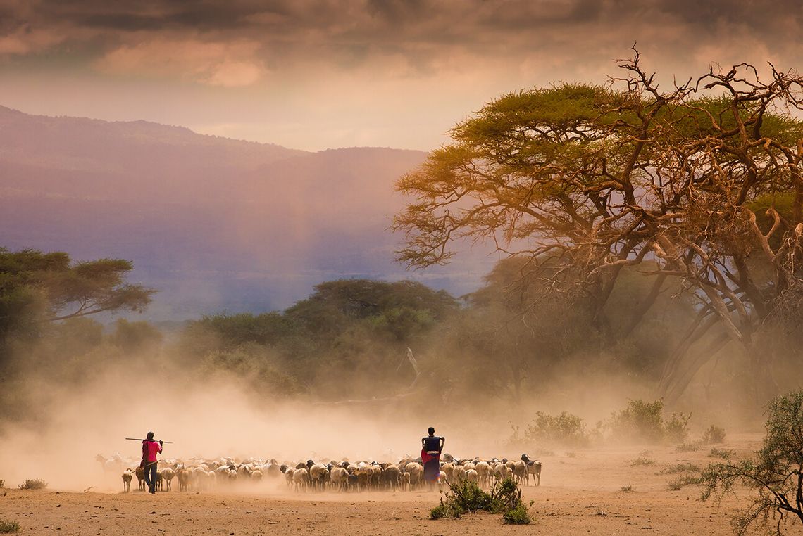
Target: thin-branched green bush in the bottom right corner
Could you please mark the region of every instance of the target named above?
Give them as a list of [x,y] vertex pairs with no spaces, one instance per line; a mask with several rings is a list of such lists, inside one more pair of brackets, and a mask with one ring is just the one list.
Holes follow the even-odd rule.
[[803,391],[778,396],[768,404],[767,435],[756,457],[728,458],[703,471],[703,501],[720,501],[743,485],[750,500],[733,519],[736,534],[752,529],[783,534],[803,525]]

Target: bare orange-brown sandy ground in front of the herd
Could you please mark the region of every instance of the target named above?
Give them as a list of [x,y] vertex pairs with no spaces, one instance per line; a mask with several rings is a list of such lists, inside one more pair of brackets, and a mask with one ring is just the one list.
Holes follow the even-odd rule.
[[[742,456],[760,439],[745,435],[716,446]],[[710,446],[542,453],[541,485],[523,493],[533,501],[529,526],[506,526],[493,514],[432,521],[438,493],[288,493],[283,484],[156,495],[6,488],[0,520],[17,521],[20,534],[732,534],[735,499],[715,508],[698,500],[695,485],[670,490],[679,474],[661,474],[678,464],[707,465],[710,453]],[[654,465],[634,465],[637,459]]]

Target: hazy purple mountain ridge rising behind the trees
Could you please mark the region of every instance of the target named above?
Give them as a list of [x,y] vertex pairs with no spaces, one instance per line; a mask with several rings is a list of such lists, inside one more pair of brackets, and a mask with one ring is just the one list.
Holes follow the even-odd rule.
[[0,246],[131,259],[133,279],[160,290],[154,319],[280,309],[340,277],[416,277],[462,293],[491,259],[424,274],[392,260],[401,238],[387,227],[403,201],[392,184],[425,156],[304,152],[0,107]]

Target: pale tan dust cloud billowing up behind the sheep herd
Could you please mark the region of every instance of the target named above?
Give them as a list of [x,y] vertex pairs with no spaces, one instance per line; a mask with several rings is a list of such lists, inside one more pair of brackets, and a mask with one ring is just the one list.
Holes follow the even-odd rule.
[[[45,407],[36,408],[38,418],[0,429],[0,479],[7,487],[42,478],[50,489],[118,492],[120,472],[136,467],[141,455],[140,443],[124,438],[149,431],[171,441],[162,458],[187,465],[219,457],[275,458],[291,465],[308,459],[395,462],[418,457],[429,426],[446,437],[445,452],[455,457],[518,459],[522,447],[511,443],[512,430],[537,411],[570,412],[593,428],[628,398],[650,394],[626,377],[573,373],[552,378],[519,404],[489,393],[478,404],[421,398],[331,404],[308,396],[281,399],[243,388],[234,376],[201,379],[169,360],[160,363],[118,363],[74,384],[29,374],[24,396]],[[536,445],[539,452],[551,451]],[[124,461],[104,469],[99,454]]]

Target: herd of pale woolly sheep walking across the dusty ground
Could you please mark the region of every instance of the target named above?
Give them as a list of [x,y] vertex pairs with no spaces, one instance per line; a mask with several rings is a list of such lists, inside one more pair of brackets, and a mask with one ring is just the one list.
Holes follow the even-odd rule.
[[[122,470],[123,490],[128,492],[136,477],[139,489],[145,489],[145,478],[140,467],[124,469],[132,465],[119,455],[106,459],[100,454],[96,458],[106,471]],[[135,462],[136,463],[136,462]],[[403,458],[396,463],[377,461],[300,461],[296,464],[279,463],[275,459],[257,460],[248,458],[218,458],[216,460],[194,460],[185,463],[180,460],[163,460],[158,463],[157,490],[170,491],[173,480],[178,481],[180,491],[215,489],[218,486],[235,483],[262,481],[281,481],[296,492],[306,491],[397,491],[422,489],[424,467],[421,458]],[[445,454],[441,461],[441,482],[474,481],[485,489],[495,480],[511,477],[521,485],[540,485],[541,462],[530,460],[522,454],[520,460],[491,458],[460,459]]]

